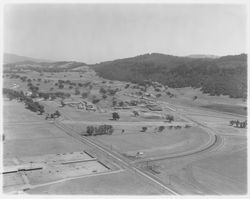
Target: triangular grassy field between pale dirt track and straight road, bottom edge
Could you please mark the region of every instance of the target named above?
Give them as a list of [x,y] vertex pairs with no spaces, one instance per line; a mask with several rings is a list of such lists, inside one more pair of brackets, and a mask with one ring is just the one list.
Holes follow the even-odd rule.
[[[158,195],[154,185],[128,171],[70,180],[28,191],[30,194]],[[168,194],[168,193],[164,193]]]

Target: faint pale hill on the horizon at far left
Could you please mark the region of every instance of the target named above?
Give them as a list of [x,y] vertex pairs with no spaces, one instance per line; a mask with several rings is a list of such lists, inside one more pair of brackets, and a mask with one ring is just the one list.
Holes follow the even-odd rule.
[[39,63],[39,62],[53,62],[53,61],[47,60],[47,59],[37,59],[37,58],[25,57],[25,56],[20,56],[20,55],[11,54],[11,53],[4,53],[4,55],[3,55],[4,64],[16,63],[16,62],[26,62],[26,61],[37,62],[37,63]]

